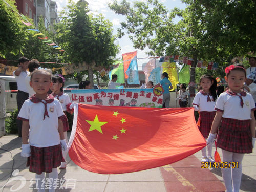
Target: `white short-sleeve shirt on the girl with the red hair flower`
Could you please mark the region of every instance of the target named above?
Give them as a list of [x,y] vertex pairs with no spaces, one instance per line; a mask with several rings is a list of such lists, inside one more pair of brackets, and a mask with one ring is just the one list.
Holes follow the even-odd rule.
[[243,108],[241,106],[241,100],[239,96],[232,96],[227,92],[221,93],[217,102],[215,109],[217,111],[223,112],[222,117],[238,119],[238,120],[248,120],[251,119],[251,111],[255,110],[255,103],[252,95],[247,93],[246,96],[242,96]]

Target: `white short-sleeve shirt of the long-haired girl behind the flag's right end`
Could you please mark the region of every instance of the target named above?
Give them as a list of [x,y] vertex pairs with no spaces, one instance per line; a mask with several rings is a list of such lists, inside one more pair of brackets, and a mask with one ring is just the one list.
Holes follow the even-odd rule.
[[207,102],[208,95],[203,95],[202,93],[198,92],[193,100],[193,105],[198,106],[199,111],[216,111],[215,104],[216,100],[214,101],[214,98],[212,95],[210,95],[210,100]]

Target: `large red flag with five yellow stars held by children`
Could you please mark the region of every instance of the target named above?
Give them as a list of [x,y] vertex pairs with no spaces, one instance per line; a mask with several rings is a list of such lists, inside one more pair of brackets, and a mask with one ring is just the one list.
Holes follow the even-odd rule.
[[70,158],[83,169],[120,174],[174,163],[206,143],[193,108],[78,104],[69,146]]

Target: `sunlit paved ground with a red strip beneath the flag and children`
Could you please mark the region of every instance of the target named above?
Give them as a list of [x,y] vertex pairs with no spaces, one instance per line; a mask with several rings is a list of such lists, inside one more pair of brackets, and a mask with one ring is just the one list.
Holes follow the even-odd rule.
[[[68,132],[69,133],[69,132]],[[22,139],[17,135],[0,138],[0,191],[37,191],[35,174],[20,156]],[[4,151],[8,150],[11,153]],[[214,152],[215,148],[212,149]],[[221,155],[221,150],[218,149]],[[14,160],[12,160],[12,157]],[[59,170],[62,189],[56,191],[83,192],[171,192],[225,191],[220,168],[201,168],[201,151],[179,162],[141,172],[102,175],[88,172],[67,157],[68,166]],[[15,170],[15,172],[13,172]],[[10,177],[11,174],[15,176]],[[7,183],[8,182],[8,183]],[[3,186],[5,185],[5,188]],[[29,189],[31,187],[31,189]],[[48,191],[48,190],[46,190]],[[256,150],[246,154],[242,165],[240,191],[256,191]]]

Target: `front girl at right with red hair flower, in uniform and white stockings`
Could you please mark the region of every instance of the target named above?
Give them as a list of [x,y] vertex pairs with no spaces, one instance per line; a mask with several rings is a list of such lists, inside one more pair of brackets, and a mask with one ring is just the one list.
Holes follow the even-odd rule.
[[225,69],[229,90],[220,94],[216,103],[216,116],[206,141],[214,142],[219,128],[217,146],[222,149],[223,162],[236,163],[234,167],[222,168],[227,192],[239,192],[242,176],[242,159],[252,153],[255,142],[255,103],[251,94],[242,90],[246,79],[243,65],[231,65]]

